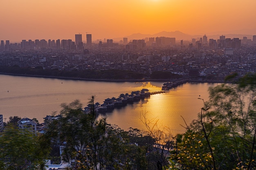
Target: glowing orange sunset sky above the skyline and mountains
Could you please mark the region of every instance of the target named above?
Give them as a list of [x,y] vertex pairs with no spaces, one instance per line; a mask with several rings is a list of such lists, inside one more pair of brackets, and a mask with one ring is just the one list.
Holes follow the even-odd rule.
[[[0,0],[0,40],[256,30],[256,0]],[[247,30],[245,30],[247,29]],[[256,32],[254,33],[256,35]]]

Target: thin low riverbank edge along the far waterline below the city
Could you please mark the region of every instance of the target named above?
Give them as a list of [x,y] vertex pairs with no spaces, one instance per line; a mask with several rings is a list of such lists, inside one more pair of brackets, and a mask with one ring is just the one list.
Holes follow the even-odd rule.
[[[85,79],[85,78],[79,78],[79,77],[58,77],[58,76],[27,75],[27,74],[13,74],[13,73],[0,73],[0,74],[24,76],[24,77],[95,81],[95,82],[170,82],[170,79]],[[198,82],[198,83],[224,83],[224,80],[198,80],[198,79],[184,79],[184,80],[186,80],[186,82]]]

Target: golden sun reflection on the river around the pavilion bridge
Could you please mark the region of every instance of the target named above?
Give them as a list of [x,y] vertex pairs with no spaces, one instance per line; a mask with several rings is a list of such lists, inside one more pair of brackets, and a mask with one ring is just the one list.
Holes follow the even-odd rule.
[[[146,119],[158,120],[158,126],[170,128],[173,134],[184,132],[185,129],[182,126],[185,126],[185,123],[182,117],[186,124],[190,124],[197,118],[203,106],[202,100],[198,97],[208,99],[208,86],[187,83],[166,93],[151,95],[150,98],[115,109],[111,114],[107,114],[108,120],[111,124],[115,122],[124,130],[129,127],[146,130],[146,126],[140,120],[141,114],[146,113]],[[150,89],[151,92],[161,90],[159,86],[150,83],[144,83],[143,87]]]

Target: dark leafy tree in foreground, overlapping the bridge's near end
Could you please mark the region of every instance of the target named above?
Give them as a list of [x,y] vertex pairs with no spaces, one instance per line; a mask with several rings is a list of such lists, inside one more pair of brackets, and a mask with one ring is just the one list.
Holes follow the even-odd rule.
[[94,99],[90,99],[91,112],[83,113],[76,100],[62,104],[62,117],[48,125],[45,139],[61,147],[62,160],[70,163],[71,169],[122,169],[144,170],[145,152],[126,143],[106,119],[96,119]]

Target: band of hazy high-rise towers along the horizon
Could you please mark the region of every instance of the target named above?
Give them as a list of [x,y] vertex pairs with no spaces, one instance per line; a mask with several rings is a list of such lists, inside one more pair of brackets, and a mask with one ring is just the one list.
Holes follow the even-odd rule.
[[[209,47],[211,50],[216,50],[218,48],[231,48],[229,54],[233,54],[233,49],[240,49],[241,44],[247,45],[255,45],[256,42],[256,35],[252,35],[252,38],[247,38],[243,36],[243,39],[240,38],[228,38],[226,35],[220,35],[219,38],[213,39],[209,38],[207,35],[203,35],[200,38],[192,38],[190,41],[177,40],[175,37],[149,37],[143,39],[130,39],[128,42],[128,38],[123,38],[119,42],[114,42],[113,39],[104,39],[102,42],[98,40],[92,43],[92,34],[86,34],[86,42],[83,43],[82,35],[75,34],[75,40],[72,41],[71,39],[68,40],[48,40],[48,43],[45,39],[42,40],[22,40],[20,43],[10,43],[9,40],[0,40],[0,50],[9,51],[9,50],[27,50],[27,49],[66,49],[66,50],[75,50],[75,51],[83,51],[84,48],[89,49],[117,49],[119,48],[119,43],[121,45],[120,48],[126,48],[127,50],[135,50],[139,49],[146,49],[146,46],[153,46],[153,47],[175,47],[175,48],[185,48],[188,47],[192,49],[193,47],[196,49],[203,49],[205,47]],[[180,43],[178,43],[180,42]],[[191,43],[192,42],[192,43]],[[225,52],[226,53],[226,52]]]

